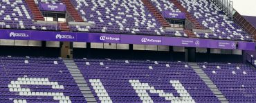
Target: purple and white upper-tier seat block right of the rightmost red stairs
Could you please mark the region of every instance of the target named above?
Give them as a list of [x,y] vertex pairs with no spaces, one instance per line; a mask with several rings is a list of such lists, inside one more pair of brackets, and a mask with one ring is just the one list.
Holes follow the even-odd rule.
[[241,27],[230,20],[225,12],[210,0],[180,0],[183,7],[199,23],[214,31],[214,34],[196,34],[200,38],[219,38],[238,41],[251,41],[252,38]]

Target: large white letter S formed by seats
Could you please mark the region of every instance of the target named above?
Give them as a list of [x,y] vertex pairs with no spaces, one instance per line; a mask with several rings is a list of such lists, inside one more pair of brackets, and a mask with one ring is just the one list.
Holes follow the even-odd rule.
[[[17,81],[11,81],[8,84],[9,91],[19,92],[19,95],[23,96],[52,96],[53,100],[60,100],[61,102],[71,103],[69,96],[65,96],[64,93],[57,92],[36,92],[30,91],[29,88],[21,87],[21,84],[26,85],[47,85],[52,86],[53,89],[64,89],[63,85],[59,85],[58,82],[50,82],[48,78],[18,78]],[[26,102],[26,100],[14,100],[14,102]]]

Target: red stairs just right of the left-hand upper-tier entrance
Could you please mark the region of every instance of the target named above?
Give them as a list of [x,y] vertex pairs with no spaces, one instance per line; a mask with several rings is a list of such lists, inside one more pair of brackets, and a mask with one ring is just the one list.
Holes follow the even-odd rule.
[[78,14],[77,10],[75,9],[74,5],[71,3],[70,0],[62,0],[62,2],[66,5],[66,11],[70,14],[75,22],[84,22],[82,16]]

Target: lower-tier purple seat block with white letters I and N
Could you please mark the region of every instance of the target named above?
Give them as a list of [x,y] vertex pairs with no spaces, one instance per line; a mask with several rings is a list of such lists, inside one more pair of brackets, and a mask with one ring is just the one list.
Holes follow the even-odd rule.
[[186,62],[76,59],[98,102],[219,100]]

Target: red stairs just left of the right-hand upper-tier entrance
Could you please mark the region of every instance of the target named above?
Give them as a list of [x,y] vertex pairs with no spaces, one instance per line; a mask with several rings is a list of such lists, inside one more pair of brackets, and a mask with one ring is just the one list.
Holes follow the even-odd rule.
[[144,5],[148,8],[150,12],[156,17],[156,19],[161,23],[163,27],[170,27],[170,24],[165,20],[158,10],[152,5],[149,0],[142,0]]

